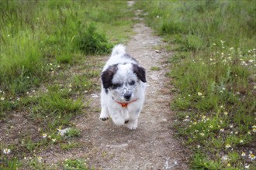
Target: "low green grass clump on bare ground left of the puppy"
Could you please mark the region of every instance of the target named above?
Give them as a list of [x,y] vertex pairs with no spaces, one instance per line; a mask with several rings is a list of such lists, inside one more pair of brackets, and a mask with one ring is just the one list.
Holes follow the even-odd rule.
[[68,90],[59,86],[49,87],[46,94],[36,99],[32,118],[49,130],[69,124],[71,117],[81,111],[81,100],[71,100]]

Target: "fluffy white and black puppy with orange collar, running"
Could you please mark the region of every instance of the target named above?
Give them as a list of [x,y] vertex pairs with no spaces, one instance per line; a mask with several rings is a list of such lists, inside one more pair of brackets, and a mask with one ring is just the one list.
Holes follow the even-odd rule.
[[136,59],[119,44],[112,49],[112,54],[102,70],[102,110],[100,119],[109,117],[117,125],[126,124],[127,128],[136,129],[137,120],[144,104],[146,73]]

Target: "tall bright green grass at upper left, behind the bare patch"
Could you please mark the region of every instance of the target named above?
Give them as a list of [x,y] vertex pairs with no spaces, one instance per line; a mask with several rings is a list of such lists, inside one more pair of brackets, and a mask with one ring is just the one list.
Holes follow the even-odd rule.
[[[109,40],[119,41],[116,35],[123,37],[123,26],[131,23],[120,22],[130,15],[121,10],[126,2],[115,5],[120,8],[106,1],[1,1],[0,89],[24,93],[47,80],[47,63],[72,63],[91,46],[98,49],[89,54],[109,53]],[[91,22],[97,27],[88,32]]]

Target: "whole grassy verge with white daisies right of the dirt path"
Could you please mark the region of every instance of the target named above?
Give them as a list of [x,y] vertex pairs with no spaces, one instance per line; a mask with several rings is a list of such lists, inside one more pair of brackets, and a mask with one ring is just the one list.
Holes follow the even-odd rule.
[[255,4],[251,1],[138,2],[173,53],[175,129],[191,168],[244,169],[255,162]]

